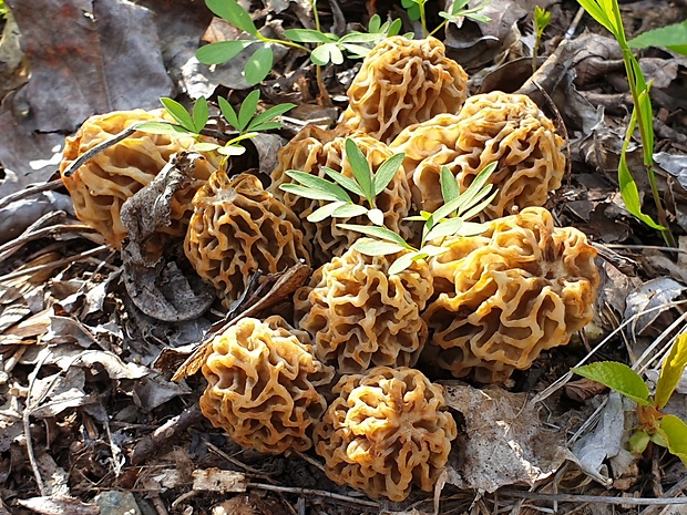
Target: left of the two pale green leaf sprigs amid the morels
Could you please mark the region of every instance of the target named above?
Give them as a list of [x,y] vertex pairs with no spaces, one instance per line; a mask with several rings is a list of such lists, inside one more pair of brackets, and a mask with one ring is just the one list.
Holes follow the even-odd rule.
[[[384,214],[377,208],[375,199],[391,183],[404,155],[396,154],[389,157],[372,174],[370,164],[360,147],[351,138],[347,138],[346,157],[351,167],[352,178],[329,167],[324,167],[324,172],[334,183],[315,175],[289,169],[286,174],[300,184],[283,184],[279,189],[314,200],[331,203],[308,215],[308,222],[318,223],[328,217],[351,218],[367,215],[372,224],[382,226]],[[369,207],[356,204],[348,192],[367,202]]]

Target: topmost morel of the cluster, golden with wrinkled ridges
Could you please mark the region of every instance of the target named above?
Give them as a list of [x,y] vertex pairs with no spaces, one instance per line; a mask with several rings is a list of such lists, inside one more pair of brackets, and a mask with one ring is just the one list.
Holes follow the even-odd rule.
[[365,59],[348,97],[340,126],[389,143],[409,125],[458,113],[468,97],[468,74],[438,39],[396,35]]

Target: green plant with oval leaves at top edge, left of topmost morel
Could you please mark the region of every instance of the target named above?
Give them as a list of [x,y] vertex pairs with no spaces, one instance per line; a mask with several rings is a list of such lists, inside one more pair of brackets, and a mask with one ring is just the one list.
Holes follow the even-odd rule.
[[[396,35],[401,29],[401,20],[381,23],[379,16],[370,19],[369,32],[352,31],[341,38],[321,30],[317,13],[316,0],[309,0],[315,14],[315,29],[287,29],[285,39],[267,38],[263,35],[250,14],[236,0],[205,0],[208,9],[237,29],[243,30],[254,39],[221,41],[202,47],[196,52],[198,61],[205,64],[222,64],[234,59],[240,51],[255,48],[253,55],[246,61],[244,78],[250,85],[265,80],[274,63],[271,47],[280,44],[306,52],[312,63],[319,66],[328,63],[341,64],[345,54],[351,59],[362,59],[370,53],[371,48],[389,35]],[[314,44],[310,49],[306,44]],[[324,94],[325,92],[322,92]]]

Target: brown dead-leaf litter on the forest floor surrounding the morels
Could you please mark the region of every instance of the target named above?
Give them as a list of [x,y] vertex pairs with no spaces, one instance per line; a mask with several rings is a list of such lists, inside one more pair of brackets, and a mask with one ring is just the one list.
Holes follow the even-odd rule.
[[[260,1],[252,11],[260,25],[301,27],[309,19],[307,1]],[[685,465],[658,446],[639,457],[622,451],[632,406],[566,375],[595,349],[595,360],[637,363],[655,380],[662,350],[685,325],[687,58],[649,49],[639,60],[654,81],[658,188],[678,241],[667,249],[621,198],[617,167],[632,97],[617,43],[588,16],[576,19],[576,2],[491,0],[484,11],[491,22],[465,20],[438,34],[468,71],[472,94],[526,92],[564,127],[570,169],[547,207],[557,225],[594,243],[602,287],[591,328],[503,389],[486,390],[498,405],[463,413],[468,428],[506,421],[507,434],[475,439],[524,451],[505,453],[504,470],[490,471],[461,468],[454,450],[450,465],[459,477],[442,476],[435,496],[413,492],[391,503],[329,481],[315,453],[266,455],[214,429],[198,409],[203,378],[170,379],[222,318],[221,306],[184,323],[143,315],[122,285],[119,253],[76,220],[66,190],[53,183],[65,135],[94,113],[156,109],[161,96],[188,103],[223,95],[240,104],[249,91],[242,62],[213,72],[192,62],[202,39],[226,37],[226,25],[215,20],[206,32],[212,13],[194,0],[7,4],[14,21],[4,21],[0,44],[0,515],[687,513],[687,504],[660,502],[685,498]],[[536,86],[526,82],[534,6],[552,12]],[[318,7],[334,32],[367,22],[369,12],[417,29],[387,0]],[[687,19],[684,1],[621,8],[628,37]],[[438,6],[429,2],[428,10],[430,24],[438,23]],[[84,20],[95,20],[98,30]],[[259,86],[263,100],[297,107],[277,132],[277,146],[250,147],[236,169],[269,171],[275,150],[300,126],[334,125],[359,68],[346,61],[324,69],[332,103],[322,105],[315,68],[297,52],[278,58]],[[638,142],[628,156],[645,209],[655,214]],[[52,186],[25,194],[45,183]],[[449,405],[476,391],[451,381],[445,388]],[[667,410],[687,420],[686,381]]]

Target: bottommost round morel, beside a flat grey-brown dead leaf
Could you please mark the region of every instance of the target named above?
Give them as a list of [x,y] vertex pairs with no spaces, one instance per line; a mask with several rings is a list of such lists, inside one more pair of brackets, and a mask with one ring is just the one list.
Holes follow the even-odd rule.
[[403,501],[431,492],[458,436],[442,388],[422,372],[378,367],[344,375],[315,429],[327,476],[371,497]]

